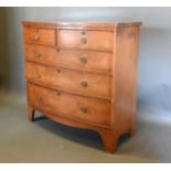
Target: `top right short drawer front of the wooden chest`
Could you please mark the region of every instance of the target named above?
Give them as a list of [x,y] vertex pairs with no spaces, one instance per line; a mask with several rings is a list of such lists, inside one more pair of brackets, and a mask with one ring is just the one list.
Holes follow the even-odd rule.
[[113,32],[60,30],[58,46],[64,49],[111,51]]

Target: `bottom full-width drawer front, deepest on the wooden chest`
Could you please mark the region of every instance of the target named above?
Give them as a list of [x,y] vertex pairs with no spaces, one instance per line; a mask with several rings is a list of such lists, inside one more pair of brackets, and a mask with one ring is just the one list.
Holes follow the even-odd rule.
[[68,117],[97,125],[110,126],[110,103],[93,98],[73,96],[28,85],[29,103],[40,109],[46,109]]

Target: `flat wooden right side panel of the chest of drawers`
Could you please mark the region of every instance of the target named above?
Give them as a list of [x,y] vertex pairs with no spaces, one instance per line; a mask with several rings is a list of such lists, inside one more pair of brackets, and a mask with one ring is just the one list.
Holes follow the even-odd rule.
[[[115,98],[114,125],[118,131],[135,135],[137,104],[139,28],[120,28],[116,34],[116,53],[114,54]],[[116,121],[117,120],[117,121]],[[121,127],[120,127],[121,126]]]

